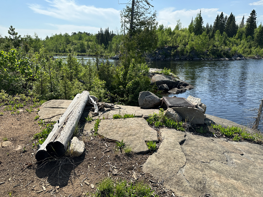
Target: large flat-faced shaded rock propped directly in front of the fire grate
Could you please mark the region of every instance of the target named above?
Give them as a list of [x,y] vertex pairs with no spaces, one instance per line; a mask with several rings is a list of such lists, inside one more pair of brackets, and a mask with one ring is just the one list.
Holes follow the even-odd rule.
[[177,111],[184,121],[192,124],[204,124],[205,114],[194,107],[172,107],[173,110]]

